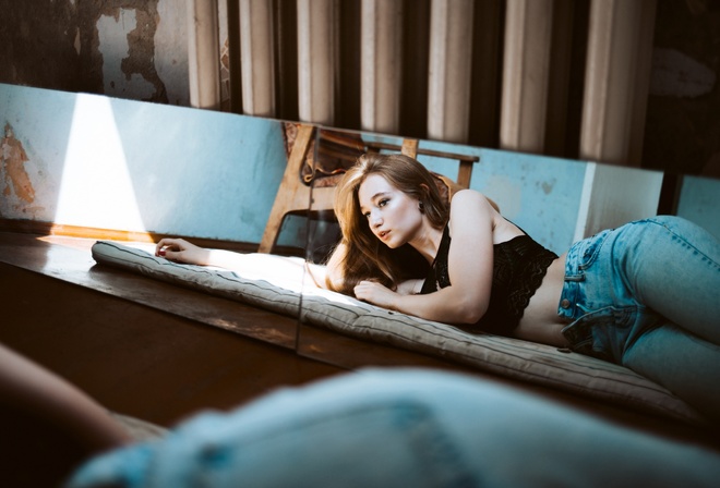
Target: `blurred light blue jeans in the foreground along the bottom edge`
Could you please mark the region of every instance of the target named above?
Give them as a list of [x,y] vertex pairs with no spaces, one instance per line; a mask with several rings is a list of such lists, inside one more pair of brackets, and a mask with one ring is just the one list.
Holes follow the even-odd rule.
[[[241,379],[240,379],[241,380]],[[717,486],[720,454],[495,382],[360,370],[103,454],[72,488]]]

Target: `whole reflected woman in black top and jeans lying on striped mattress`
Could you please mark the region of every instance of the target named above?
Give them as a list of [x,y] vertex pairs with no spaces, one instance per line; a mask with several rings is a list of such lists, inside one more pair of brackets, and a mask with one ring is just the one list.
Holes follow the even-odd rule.
[[[718,240],[681,218],[655,217],[557,256],[480,193],[459,191],[448,203],[435,181],[407,156],[361,157],[336,190],[343,240],[324,285],[469,332],[617,363],[720,424]],[[165,239],[156,253],[241,266],[240,255],[182,240]]]

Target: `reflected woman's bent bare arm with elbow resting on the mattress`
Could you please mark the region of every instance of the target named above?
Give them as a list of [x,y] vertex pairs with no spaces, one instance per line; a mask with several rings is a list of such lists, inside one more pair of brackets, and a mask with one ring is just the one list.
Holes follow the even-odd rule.
[[451,207],[451,286],[427,295],[401,295],[363,281],[356,296],[379,306],[448,324],[475,324],[490,302],[493,266],[493,215],[487,198],[475,191],[455,195]]

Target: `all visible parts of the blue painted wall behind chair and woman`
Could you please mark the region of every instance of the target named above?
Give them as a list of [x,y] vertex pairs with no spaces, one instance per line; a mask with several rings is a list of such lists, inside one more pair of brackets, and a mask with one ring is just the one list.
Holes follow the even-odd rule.
[[[0,84],[0,218],[260,242],[287,163],[279,121]],[[367,141],[401,144],[365,134]],[[471,187],[556,253],[573,242],[587,163],[446,143]],[[456,160],[421,156],[457,176]],[[686,178],[679,215],[720,235],[720,182]],[[304,220],[280,244],[302,246]]]

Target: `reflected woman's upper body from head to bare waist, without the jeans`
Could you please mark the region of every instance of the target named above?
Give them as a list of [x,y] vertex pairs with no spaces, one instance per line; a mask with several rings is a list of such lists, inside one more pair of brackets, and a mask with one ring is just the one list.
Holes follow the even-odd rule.
[[[362,157],[337,188],[335,211],[344,240],[328,263],[328,286],[386,308],[465,325],[471,332],[566,345],[556,300],[538,300],[560,295],[563,260],[505,220],[478,192],[457,192],[449,206],[435,181],[407,156]],[[422,256],[429,274],[417,264],[403,266],[398,255],[409,254],[408,246]],[[518,252],[523,258],[516,263]],[[504,266],[493,281],[499,258]],[[513,265],[525,266],[528,276],[513,283],[507,279],[514,277],[500,276]]]

